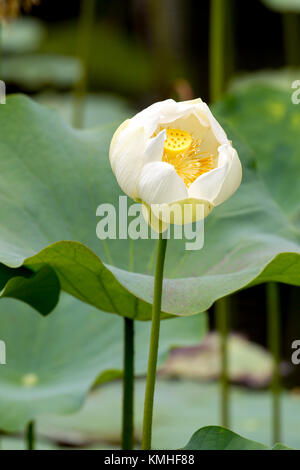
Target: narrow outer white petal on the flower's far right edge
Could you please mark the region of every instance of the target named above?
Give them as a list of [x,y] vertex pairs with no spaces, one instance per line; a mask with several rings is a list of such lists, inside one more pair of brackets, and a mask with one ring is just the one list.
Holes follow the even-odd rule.
[[227,149],[227,151],[231,153],[231,165],[220,191],[213,201],[216,206],[229,199],[238,189],[242,181],[242,165],[237,151],[232,147]]

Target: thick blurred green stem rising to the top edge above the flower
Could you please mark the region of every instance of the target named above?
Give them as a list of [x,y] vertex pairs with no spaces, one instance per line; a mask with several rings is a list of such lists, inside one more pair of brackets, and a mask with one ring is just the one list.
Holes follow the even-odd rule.
[[224,90],[225,2],[210,0],[210,97],[213,103],[221,98]]

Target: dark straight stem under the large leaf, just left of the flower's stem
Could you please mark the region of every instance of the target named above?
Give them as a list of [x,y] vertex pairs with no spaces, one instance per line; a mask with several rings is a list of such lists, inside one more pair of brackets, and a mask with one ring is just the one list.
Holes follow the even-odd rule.
[[122,449],[134,447],[134,320],[124,318]]

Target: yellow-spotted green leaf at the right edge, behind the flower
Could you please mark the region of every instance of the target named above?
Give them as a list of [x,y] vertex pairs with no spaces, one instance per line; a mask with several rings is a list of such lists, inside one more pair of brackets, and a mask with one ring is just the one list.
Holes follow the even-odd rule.
[[282,217],[282,234],[300,235],[300,107],[290,91],[252,86],[231,94],[218,113],[251,145],[253,160]]

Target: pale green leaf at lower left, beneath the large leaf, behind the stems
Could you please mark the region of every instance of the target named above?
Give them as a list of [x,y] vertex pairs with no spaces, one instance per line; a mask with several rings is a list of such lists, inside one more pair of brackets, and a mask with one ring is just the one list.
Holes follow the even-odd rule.
[[[122,319],[63,294],[47,318],[11,299],[0,304],[0,429],[17,431],[45,413],[70,413],[82,405],[97,379],[122,375]],[[171,349],[201,341],[206,315],[162,322],[159,366]],[[146,374],[150,324],[136,322],[136,375]]]

